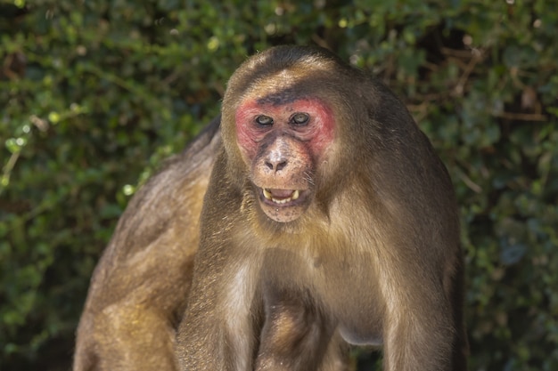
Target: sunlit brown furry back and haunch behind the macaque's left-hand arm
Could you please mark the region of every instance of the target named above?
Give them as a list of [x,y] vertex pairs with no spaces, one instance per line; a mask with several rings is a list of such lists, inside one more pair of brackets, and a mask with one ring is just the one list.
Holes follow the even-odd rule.
[[220,117],[137,191],[92,276],[74,371],[176,371],[176,327],[192,280]]

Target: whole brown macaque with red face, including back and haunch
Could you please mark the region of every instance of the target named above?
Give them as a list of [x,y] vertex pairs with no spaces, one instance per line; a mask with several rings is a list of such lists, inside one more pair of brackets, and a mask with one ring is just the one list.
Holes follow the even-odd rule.
[[333,371],[348,344],[383,345],[385,370],[465,369],[452,185],[386,87],[276,47],[231,77],[218,125],[127,207],[74,371]]

